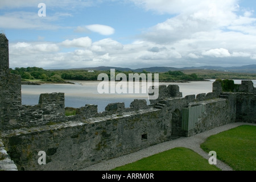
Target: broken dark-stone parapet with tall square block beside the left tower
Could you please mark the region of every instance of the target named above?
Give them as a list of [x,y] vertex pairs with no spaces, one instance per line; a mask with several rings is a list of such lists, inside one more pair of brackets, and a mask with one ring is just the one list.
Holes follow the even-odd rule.
[[[7,107],[9,114],[5,129],[51,125],[67,121],[64,109],[64,93],[41,94],[39,104],[35,106],[18,105]],[[8,105],[6,105],[8,106]],[[13,119],[9,119],[12,115]]]

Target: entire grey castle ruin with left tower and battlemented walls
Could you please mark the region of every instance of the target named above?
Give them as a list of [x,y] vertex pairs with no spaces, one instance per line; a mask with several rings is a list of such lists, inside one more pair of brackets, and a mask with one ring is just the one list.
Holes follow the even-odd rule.
[[[64,93],[41,94],[38,105],[21,102],[21,78],[9,71],[9,42],[0,34],[0,170],[79,170],[177,137],[191,137],[232,122],[256,122],[252,81],[235,93],[182,97],[177,85],[159,86],[158,100],[85,105],[65,116]],[[39,151],[46,164],[38,163]]]

